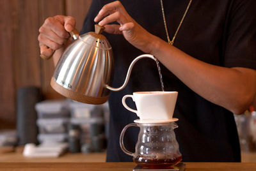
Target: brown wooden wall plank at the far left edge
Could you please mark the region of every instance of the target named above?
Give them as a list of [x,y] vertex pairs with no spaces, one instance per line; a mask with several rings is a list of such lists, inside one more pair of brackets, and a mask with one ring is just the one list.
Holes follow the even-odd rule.
[[9,0],[0,1],[0,129],[15,122],[15,85],[12,64],[12,16]]

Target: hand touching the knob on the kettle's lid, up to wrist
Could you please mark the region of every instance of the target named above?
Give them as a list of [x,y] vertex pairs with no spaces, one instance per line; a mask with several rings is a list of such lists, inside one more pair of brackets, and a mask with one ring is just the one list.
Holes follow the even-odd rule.
[[[125,39],[134,47],[139,48],[145,53],[150,53],[152,42],[156,36],[148,33],[127,13],[120,1],[106,4],[99,11],[94,19],[99,22],[100,26],[104,26],[107,33],[123,34]],[[111,24],[118,22],[120,25]]]

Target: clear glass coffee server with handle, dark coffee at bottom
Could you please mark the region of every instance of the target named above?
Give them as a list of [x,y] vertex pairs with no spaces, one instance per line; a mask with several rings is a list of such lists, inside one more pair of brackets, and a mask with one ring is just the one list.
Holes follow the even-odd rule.
[[[124,134],[130,126],[140,128],[134,153],[124,145]],[[184,163],[180,163],[182,154],[173,131],[177,127],[175,122],[127,124],[120,135],[120,147],[138,164],[134,170],[184,170]]]

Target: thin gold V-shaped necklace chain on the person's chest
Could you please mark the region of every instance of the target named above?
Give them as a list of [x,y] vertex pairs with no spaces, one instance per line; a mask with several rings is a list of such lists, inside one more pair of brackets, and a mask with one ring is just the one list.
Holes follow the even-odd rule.
[[184,13],[182,19],[180,20],[180,24],[179,24],[179,26],[178,26],[178,28],[177,28],[177,30],[176,30],[176,32],[175,32],[173,38],[172,38],[172,41],[170,41],[169,34],[168,34],[168,29],[167,29],[167,26],[166,26],[166,20],[165,20],[165,15],[164,15],[163,0],[160,0],[160,1],[161,1],[161,8],[162,8],[163,19],[164,19],[164,28],[165,28],[165,31],[166,31],[167,40],[168,40],[168,43],[169,43],[170,45],[173,45],[174,40],[175,40],[175,38],[176,38],[176,36],[177,36],[177,33],[179,32],[180,26],[182,25],[182,22],[183,22],[184,18],[185,18],[186,15],[187,15],[187,12],[188,12],[188,9],[189,9],[189,7],[190,7],[190,4],[191,4],[192,0],[190,0],[189,3],[188,3],[187,9],[186,9],[186,11],[185,11],[185,13]]

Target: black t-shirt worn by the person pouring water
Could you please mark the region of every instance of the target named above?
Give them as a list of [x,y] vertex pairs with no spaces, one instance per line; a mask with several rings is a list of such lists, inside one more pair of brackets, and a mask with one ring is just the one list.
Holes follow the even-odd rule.
[[[81,33],[94,30],[93,19],[102,6],[111,1],[93,0]],[[161,4],[158,0],[121,1],[129,15],[150,33],[166,40]],[[172,40],[189,0],[163,0],[168,33]],[[193,0],[174,46],[205,63],[225,67],[256,69],[256,1]],[[125,80],[129,64],[144,54],[129,44],[122,35],[107,34],[115,57],[113,87]],[[215,105],[183,84],[161,64],[164,90],[178,91],[173,117],[179,118],[175,135],[183,161],[241,161],[239,138],[234,115]],[[195,75],[196,77],[196,75]],[[204,86],[204,85],[202,85]],[[109,96],[109,139],[107,161],[132,161],[120,149],[120,132],[138,119],[122,105],[122,97],[135,91],[160,91],[156,62],[141,59],[132,69],[124,90]],[[127,104],[136,108],[133,101]],[[134,151],[139,128],[125,133],[125,147]]]

